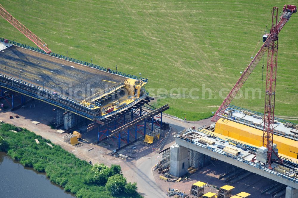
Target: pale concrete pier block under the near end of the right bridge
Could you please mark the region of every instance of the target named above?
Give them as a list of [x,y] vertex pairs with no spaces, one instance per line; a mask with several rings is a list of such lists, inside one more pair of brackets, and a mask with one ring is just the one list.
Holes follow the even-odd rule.
[[181,177],[187,173],[188,149],[184,146],[174,144],[170,148],[170,174]]

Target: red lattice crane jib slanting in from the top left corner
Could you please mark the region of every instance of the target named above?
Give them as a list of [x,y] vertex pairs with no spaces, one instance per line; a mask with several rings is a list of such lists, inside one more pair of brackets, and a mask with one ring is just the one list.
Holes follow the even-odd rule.
[[38,38],[33,32],[16,20],[10,13],[8,13],[5,8],[0,4],[0,15],[12,24],[16,29],[22,32],[27,38],[29,38],[33,43],[35,43],[40,49],[44,50],[47,54],[51,53],[51,50],[48,48],[48,45]]

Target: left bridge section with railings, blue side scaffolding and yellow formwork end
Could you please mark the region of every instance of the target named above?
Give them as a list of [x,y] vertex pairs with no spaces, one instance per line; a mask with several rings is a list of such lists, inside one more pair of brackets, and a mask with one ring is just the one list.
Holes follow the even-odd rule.
[[2,97],[3,90],[11,90],[99,121],[145,100],[147,82],[131,74],[52,52],[45,54],[41,49],[0,38]]

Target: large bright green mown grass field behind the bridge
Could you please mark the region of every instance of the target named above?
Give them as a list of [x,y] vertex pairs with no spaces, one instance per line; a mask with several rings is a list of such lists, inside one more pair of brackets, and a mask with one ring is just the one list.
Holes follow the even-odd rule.
[[[188,120],[211,116],[221,105],[251,60],[273,6],[297,1],[20,1],[1,4],[43,39],[52,52],[129,74],[148,77],[147,90],[169,103],[166,113]],[[17,29],[0,19],[0,36],[34,46]],[[298,117],[298,13],[279,35],[276,115]],[[260,48],[260,44],[257,50]],[[257,52],[256,50],[256,52]],[[254,56],[254,55],[253,55]],[[232,104],[263,112],[262,65],[243,86],[243,97]],[[265,66],[266,68],[266,66]],[[264,74],[264,78],[266,74]],[[157,90],[165,88],[163,91]],[[170,90],[176,88],[176,91]],[[185,91],[183,98],[182,88]],[[189,90],[193,96],[190,98]],[[203,88],[205,91],[205,97]],[[249,88],[263,89],[252,99]],[[181,93],[179,93],[181,89]],[[177,91],[178,90],[178,91]],[[210,97],[209,92],[211,91]],[[170,94],[171,93],[171,94]],[[182,95],[182,98],[179,98]],[[173,99],[175,96],[178,99]],[[295,121],[295,120],[293,120]],[[297,121],[296,121],[297,122]]]

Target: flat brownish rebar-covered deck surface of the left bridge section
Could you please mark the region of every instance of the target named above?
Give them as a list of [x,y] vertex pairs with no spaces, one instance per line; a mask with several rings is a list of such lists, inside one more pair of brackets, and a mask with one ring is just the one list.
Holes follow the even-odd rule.
[[128,79],[14,45],[1,50],[0,70],[78,101]]

